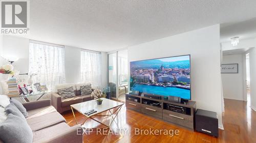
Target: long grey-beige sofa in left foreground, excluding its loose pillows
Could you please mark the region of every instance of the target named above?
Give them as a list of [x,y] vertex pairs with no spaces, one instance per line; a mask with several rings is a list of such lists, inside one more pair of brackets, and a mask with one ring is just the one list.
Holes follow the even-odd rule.
[[33,142],[83,142],[82,135],[77,135],[82,127],[70,127],[51,106],[50,99],[23,103],[23,106],[28,111],[26,121],[32,129]]

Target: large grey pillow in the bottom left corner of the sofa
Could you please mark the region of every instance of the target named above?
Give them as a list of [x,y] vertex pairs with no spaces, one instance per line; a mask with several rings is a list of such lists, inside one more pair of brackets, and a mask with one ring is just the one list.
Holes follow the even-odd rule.
[[0,124],[0,139],[5,143],[30,143],[33,132],[24,119],[9,113],[6,121]]

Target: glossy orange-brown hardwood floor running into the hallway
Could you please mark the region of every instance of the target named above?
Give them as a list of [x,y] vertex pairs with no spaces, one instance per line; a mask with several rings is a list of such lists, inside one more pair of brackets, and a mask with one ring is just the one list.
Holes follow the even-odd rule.
[[[256,112],[253,111],[247,102],[225,99],[225,112],[223,113],[223,126],[225,130],[219,129],[219,138],[212,137],[196,131],[163,122],[161,120],[148,117],[141,113],[122,107],[115,122],[111,126],[111,132],[93,130],[87,131],[83,135],[84,142],[256,142]],[[75,125],[75,120],[71,111],[62,113],[70,126]],[[86,118],[75,112],[75,115],[82,123]],[[101,117],[102,118],[102,117]],[[105,122],[110,120],[104,119]],[[100,127],[93,120],[86,122],[86,127]],[[123,130],[118,130],[123,129]],[[179,135],[136,135],[135,130],[179,130]],[[127,130],[127,133],[125,133]],[[107,134],[107,135],[105,135]],[[170,133],[171,134],[171,133]]]

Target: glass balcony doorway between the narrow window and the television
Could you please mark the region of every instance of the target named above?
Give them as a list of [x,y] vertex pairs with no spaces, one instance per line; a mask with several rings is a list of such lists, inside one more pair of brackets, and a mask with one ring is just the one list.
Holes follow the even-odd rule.
[[111,98],[125,102],[128,92],[128,50],[118,50],[108,54],[108,85]]

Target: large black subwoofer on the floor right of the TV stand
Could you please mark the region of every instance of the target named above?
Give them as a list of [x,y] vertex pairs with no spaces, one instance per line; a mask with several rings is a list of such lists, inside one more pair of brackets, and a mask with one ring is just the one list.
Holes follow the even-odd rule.
[[197,109],[195,118],[196,131],[215,137],[219,136],[218,118],[216,112]]

